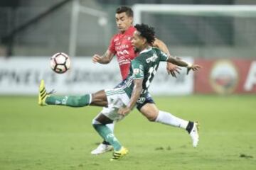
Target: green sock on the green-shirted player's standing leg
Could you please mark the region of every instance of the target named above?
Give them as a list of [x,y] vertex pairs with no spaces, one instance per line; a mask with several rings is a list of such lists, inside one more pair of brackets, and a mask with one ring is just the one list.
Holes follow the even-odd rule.
[[107,128],[106,125],[102,124],[93,124],[93,127],[105,141],[109,142],[114,147],[115,151],[121,149],[122,145],[117,138],[114,137],[114,133],[110,130],[110,128]]

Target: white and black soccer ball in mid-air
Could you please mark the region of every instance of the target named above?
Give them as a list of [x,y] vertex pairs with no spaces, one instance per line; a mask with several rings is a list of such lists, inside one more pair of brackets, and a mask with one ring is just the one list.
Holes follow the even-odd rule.
[[64,52],[58,52],[50,57],[50,68],[58,74],[63,74],[70,69],[70,57]]

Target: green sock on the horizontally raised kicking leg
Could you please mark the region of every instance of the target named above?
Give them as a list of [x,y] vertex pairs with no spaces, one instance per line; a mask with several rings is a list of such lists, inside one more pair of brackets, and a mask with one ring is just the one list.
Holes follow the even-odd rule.
[[48,105],[61,105],[71,107],[88,106],[90,101],[90,94],[85,94],[84,96],[48,96],[46,98],[46,104]]

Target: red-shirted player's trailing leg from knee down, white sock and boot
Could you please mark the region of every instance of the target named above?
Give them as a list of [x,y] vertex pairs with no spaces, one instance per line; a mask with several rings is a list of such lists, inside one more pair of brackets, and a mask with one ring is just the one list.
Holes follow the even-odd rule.
[[154,121],[158,123],[163,123],[165,125],[172,125],[178,128],[183,128],[188,131],[188,134],[191,136],[193,147],[198,145],[199,135],[198,135],[198,123],[183,120],[177,118],[171,113],[164,111],[159,111],[154,103],[146,103],[140,109],[140,112],[148,118],[149,121]]

